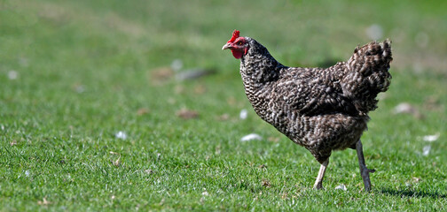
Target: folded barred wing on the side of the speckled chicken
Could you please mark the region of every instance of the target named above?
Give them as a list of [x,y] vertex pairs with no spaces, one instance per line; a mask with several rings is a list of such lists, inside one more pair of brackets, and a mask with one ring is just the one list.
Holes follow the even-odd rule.
[[302,115],[358,113],[354,104],[343,95],[338,77],[329,69],[288,68],[271,95],[280,107],[296,110]]

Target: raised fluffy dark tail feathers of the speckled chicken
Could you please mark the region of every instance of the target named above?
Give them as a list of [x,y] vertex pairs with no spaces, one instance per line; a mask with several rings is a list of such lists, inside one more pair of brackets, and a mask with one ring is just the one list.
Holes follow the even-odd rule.
[[391,42],[370,42],[357,47],[347,63],[348,72],[341,79],[343,93],[351,98],[360,113],[377,108],[376,97],[388,90],[391,74],[388,72]]

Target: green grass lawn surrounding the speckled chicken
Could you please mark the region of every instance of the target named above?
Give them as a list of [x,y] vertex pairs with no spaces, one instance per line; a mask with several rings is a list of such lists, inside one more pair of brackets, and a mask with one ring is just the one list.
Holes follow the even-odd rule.
[[[0,211],[443,210],[445,4],[2,0]],[[395,57],[362,137],[377,170],[372,193],[352,150],[333,153],[325,190],[314,191],[319,164],[255,115],[239,62],[221,48],[237,28],[283,64],[315,66],[347,59],[372,24]],[[217,72],[158,82],[154,72],[175,59]],[[394,114],[400,102],[423,117]],[[177,117],[181,109],[199,117]],[[239,141],[248,133],[264,139]]]

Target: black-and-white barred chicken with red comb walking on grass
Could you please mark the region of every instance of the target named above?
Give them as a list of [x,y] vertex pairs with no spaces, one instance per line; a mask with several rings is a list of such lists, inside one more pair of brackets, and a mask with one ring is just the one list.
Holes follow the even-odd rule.
[[250,37],[235,30],[222,49],[240,59],[245,93],[256,114],[307,148],[321,164],[314,188],[323,178],[333,150],[357,150],[365,191],[371,190],[360,137],[367,129],[368,112],[390,84],[391,42],[370,42],[354,50],[348,62],[329,68],[287,67]]

